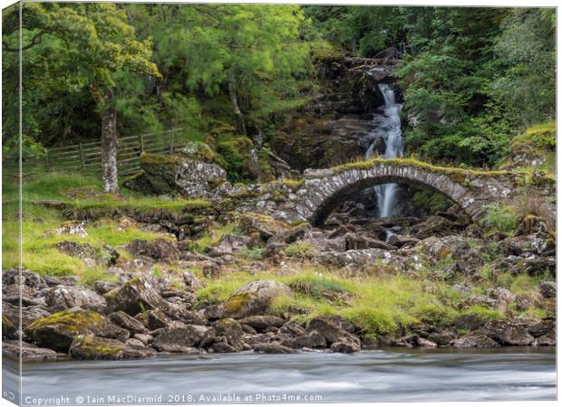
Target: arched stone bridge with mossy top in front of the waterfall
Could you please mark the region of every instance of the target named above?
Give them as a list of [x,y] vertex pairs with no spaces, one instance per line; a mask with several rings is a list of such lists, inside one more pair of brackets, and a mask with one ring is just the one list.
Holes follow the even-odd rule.
[[304,184],[294,187],[286,199],[279,199],[280,194],[276,194],[274,203],[269,197],[275,195],[275,192],[271,194],[272,190],[282,188],[277,182],[270,184],[268,196],[257,197],[253,204],[257,212],[278,219],[319,224],[354,194],[389,183],[412,185],[444,195],[459,204],[473,221],[478,221],[486,213],[486,205],[509,204],[518,190],[518,174],[431,166],[410,158],[374,158],[330,169],[305,170]]

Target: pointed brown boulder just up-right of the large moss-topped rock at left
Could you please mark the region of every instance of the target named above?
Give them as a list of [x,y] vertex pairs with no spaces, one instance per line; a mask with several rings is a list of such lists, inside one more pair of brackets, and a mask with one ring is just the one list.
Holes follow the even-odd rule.
[[109,308],[137,315],[144,309],[158,308],[162,298],[152,285],[142,277],[133,277],[118,289],[105,295]]

